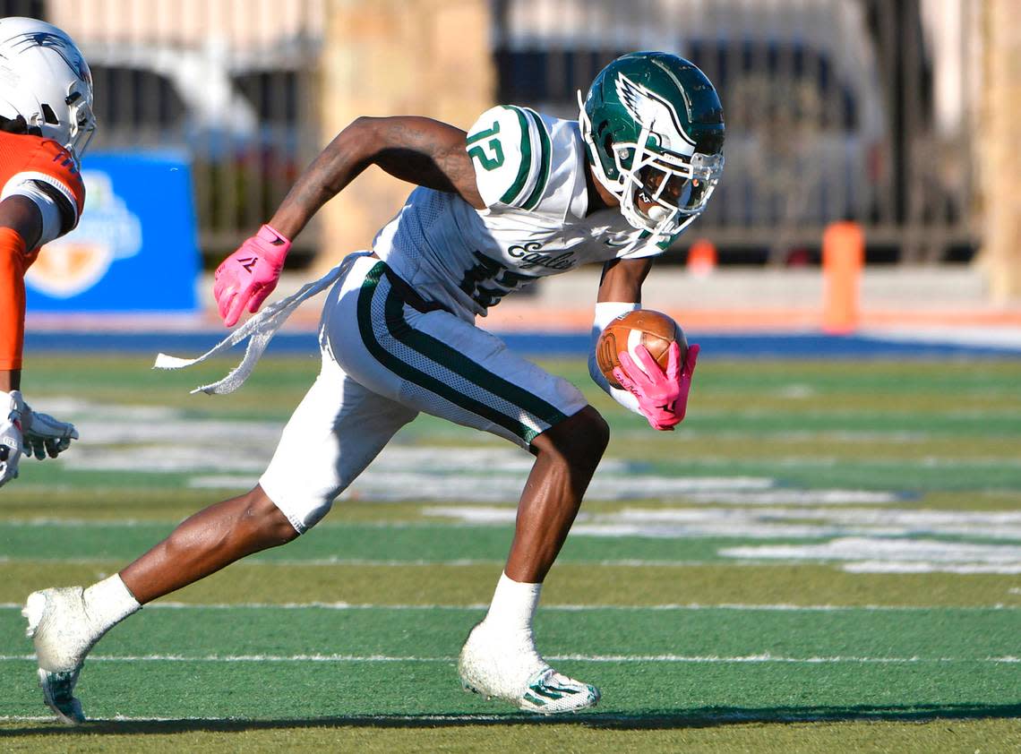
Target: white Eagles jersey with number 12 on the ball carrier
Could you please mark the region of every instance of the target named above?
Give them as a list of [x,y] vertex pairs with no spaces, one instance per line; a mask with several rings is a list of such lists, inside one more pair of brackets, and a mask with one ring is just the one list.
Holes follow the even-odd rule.
[[663,253],[617,207],[586,214],[576,120],[493,107],[469,131],[467,148],[487,208],[420,187],[373,243],[423,298],[471,321],[539,278]]

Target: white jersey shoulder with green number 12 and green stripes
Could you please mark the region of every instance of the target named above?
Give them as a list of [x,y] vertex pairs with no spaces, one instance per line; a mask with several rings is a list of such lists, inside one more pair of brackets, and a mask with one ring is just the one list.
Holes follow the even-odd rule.
[[487,207],[535,209],[552,166],[552,142],[539,113],[517,105],[492,107],[472,125],[467,149]]

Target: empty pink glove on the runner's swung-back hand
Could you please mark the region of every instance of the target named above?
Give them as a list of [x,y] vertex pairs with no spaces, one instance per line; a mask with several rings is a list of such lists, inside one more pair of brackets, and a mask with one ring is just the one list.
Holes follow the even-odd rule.
[[245,308],[252,314],[258,311],[277,287],[290,249],[290,241],[270,225],[262,225],[216,267],[212,295],[224,324],[237,324]]

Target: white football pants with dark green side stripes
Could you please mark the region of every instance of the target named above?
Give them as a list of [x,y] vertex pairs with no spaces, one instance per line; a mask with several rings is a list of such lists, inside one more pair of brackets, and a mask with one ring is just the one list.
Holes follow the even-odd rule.
[[323,308],[322,371],[259,480],[298,532],[420,411],[527,448],[587,405],[568,381],[423,301],[385,262],[349,261]]

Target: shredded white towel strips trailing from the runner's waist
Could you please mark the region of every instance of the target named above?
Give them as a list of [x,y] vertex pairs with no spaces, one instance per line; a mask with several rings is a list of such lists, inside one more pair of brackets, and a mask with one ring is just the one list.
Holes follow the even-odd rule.
[[[348,259],[350,259],[350,257],[348,257]],[[168,356],[165,353],[161,353],[156,356],[156,363],[153,364],[153,368],[183,369],[184,367],[191,366],[192,364],[199,364],[210,356],[216,356],[225,351],[229,351],[231,348],[241,343],[241,341],[245,338],[250,338],[251,340],[248,341],[248,347],[245,349],[245,356],[241,359],[241,363],[235,366],[227,376],[218,382],[212,383],[211,385],[203,385],[192,391],[192,394],[207,393],[208,395],[226,395],[228,393],[233,393],[235,390],[240,388],[242,384],[244,384],[245,380],[248,379],[248,375],[251,374],[252,369],[255,368],[255,364],[262,356],[262,352],[265,351],[265,347],[270,345],[270,341],[273,340],[273,337],[277,334],[277,331],[280,330],[281,325],[287,321],[287,317],[289,317],[294,310],[298,308],[298,304],[306,299],[310,299],[312,296],[322,293],[325,289],[332,286],[344,271],[345,264],[344,262],[341,262],[318,281],[313,281],[312,283],[302,286],[301,290],[297,293],[294,293],[285,299],[281,299],[280,301],[277,301],[276,303],[262,309],[262,311],[235,330],[227,338],[222,340],[198,358],[182,359],[177,356]]]

